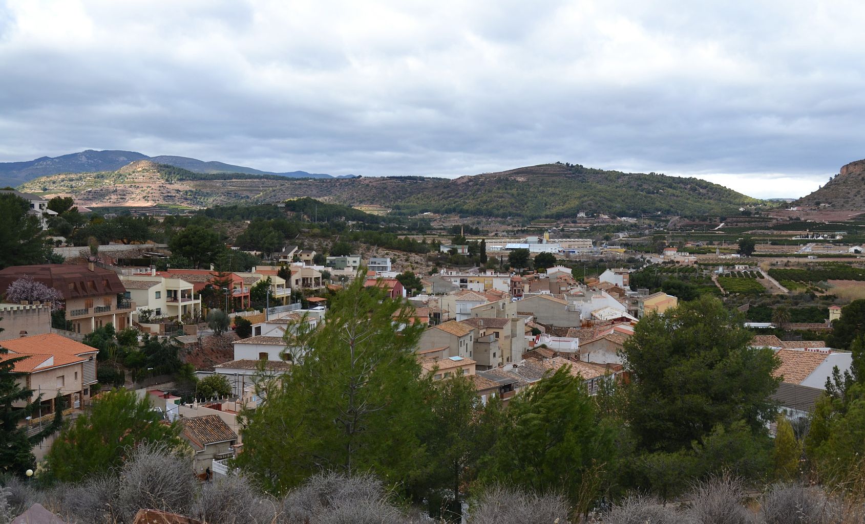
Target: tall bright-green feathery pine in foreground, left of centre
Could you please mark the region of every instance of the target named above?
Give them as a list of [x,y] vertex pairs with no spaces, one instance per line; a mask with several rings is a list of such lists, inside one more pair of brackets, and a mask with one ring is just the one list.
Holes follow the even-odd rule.
[[422,460],[420,410],[429,384],[413,353],[423,331],[413,310],[360,275],[330,298],[327,322],[289,326],[298,362],[245,412],[238,465],[272,493],[320,470],[372,471],[413,482]]

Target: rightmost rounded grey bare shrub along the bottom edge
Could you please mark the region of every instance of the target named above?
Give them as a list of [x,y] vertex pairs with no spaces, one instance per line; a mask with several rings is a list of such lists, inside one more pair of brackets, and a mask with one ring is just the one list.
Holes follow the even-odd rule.
[[760,524],[836,524],[842,505],[816,486],[775,484],[760,499]]

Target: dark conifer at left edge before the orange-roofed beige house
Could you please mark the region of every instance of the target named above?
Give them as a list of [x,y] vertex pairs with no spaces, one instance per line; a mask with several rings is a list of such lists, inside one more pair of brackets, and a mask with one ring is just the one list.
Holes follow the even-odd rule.
[[[21,423],[34,412],[36,406],[39,406],[42,395],[33,399],[33,390],[23,387],[19,381],[19,378],[26,374],[15,371],[16,362],[28,357],[8,355],[9,350],[0,347],[0,467],[4,472],[23,476],[25,471],[35,468],[34,444],[38,444],[43,438],[60,429],[63,401],[61,394],[58,393],[52,423],[45,426],[42,431],[28,436],[27,427]],[[22,402],[23,407],[14,406]]]

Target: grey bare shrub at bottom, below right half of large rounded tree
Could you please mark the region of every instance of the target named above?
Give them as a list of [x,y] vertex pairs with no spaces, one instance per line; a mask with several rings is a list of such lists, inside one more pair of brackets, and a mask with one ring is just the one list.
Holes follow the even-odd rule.
[[742,481],[729,475],[697,482],[689,514],[696,524],[750,524],[754,516],[744,506]]

